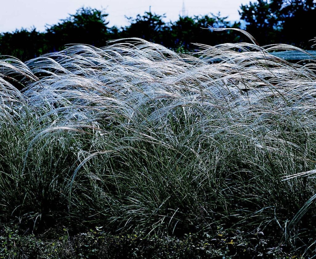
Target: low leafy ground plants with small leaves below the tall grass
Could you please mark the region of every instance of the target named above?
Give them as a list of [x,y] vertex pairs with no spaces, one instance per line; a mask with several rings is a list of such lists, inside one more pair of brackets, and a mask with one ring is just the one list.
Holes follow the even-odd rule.
[[[267,240],[262,232],[185,234],[181,238],[145,236],[142,233],[111,235],[102,227],[71,235],[68,229],[45,234],[19,233],[18,226],[6,226],[0,233],[0,258],[250,258],[262,256]],[[268,241],[269,242],[269,241]],[[274,242],[273,242],[274,243]],[[270,243],[271,244],[271,243]],[[267,258],[300,258],[284,246],[270,248]]]

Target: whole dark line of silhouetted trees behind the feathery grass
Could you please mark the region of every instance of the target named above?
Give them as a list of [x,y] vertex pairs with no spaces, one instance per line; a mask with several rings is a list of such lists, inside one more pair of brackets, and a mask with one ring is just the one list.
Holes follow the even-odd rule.
[[15,56],[22,61],[45,53],[64,49],[65,44],[90,44],[102,47],[109,40],[143,38],[178,52],[196,49],[192,43],[216,45],[245,41],[241,33],[228,30],[215,32],[211,27],[243,28],[260,45],[292,44],[310,49],[316,36],[314,0],[258,0],[240,6],[240,19],[246,23],[230,22],[220,14],[179,16],[166,22],[165,15],[145,12],[127,18],[129,25],[109,26],[105,10],[81,8],[44,32],[36,28],[20,29],[0,34],[0,55]]

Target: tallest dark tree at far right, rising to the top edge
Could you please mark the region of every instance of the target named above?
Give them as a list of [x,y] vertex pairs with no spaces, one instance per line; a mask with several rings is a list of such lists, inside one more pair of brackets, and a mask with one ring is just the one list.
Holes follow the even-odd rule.
[[313,0],[258,0],[241,5],[240,18],[246,21],[246,31],[260,45],[292,44],[309,49],[316,35],[312,26],[316,17]]

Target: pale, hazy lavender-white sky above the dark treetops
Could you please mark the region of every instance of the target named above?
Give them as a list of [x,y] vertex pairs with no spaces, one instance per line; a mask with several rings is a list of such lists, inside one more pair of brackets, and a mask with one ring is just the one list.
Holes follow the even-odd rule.
[[[250,0],[184,0],[188,15],[209,13],[229,16],[228,20],[239,20],[240,5]],[[183,0],[0,0],[0,32],[35,26],[40,31],[45,25],[58,23],[81,7],[105,9],[109,14],[110,26],[125,26],[128,17],[135,17],[145,11],[166,14],[165,21],[175,21],[182,14]]]

